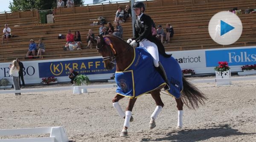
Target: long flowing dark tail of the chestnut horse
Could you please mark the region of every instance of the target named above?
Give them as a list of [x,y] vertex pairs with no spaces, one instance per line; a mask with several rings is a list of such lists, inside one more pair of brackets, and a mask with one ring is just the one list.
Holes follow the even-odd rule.
[[198,108],[198,104],[204,105],[204,100],[207,100],[204,93],[202,93],[196,86],[189,83],[184,76],[182,76],[183,90],[181,92],[181,100],[185,105],[191,109]]

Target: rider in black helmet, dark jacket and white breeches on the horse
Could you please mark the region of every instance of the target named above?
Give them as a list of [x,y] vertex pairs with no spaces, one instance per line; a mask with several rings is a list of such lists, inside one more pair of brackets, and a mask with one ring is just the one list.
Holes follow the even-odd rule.
[[[128,39],[127,43],[129,43],[132,47],[136,48],[138,43],[140,43],[141,47],[144,47],[148,53],[151,54],[153,57],[153,63],[156,67],[157,71],[162,76],[163,80],[166,82],[167,85],[164,86],[165,90],[169,90],[169,81],[166,76],[166,72],[162,66],[162,64],[159,62],[159,56],[158,56],[158,50],[157,45],[159,45],[159,42],[157,42],[157,39],[152,36],[152,19],[148,15],[144,14],[145,11],[145,5],[142,2],[136,2],[134,3],[132,9],[135,11],[135,14],[137,16],[137,20],[134,23],[134,31],[135,36],[132,39]],[[156,43],[158,43],[156,45]],[[163,46],[163,45],[161,45]]]

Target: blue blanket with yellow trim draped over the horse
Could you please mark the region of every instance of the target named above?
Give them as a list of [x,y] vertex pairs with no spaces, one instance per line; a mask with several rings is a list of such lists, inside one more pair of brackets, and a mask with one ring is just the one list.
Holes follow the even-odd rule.
[[[166,92],[175,98],[180,98],[183,89],[180,65],[173,57],[165,58],[159,54],[159,60],[166,71],[171,88]],[[137,98],[166,84],[155,69],[152,56],[141,47],[134,49],[134,59],[131,64],[123,72],[115,73],[115,80],[116,93],[130,98]]]

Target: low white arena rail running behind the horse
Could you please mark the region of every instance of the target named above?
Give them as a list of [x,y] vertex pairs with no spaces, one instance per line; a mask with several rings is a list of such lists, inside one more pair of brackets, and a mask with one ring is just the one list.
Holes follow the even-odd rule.
[[[189,80],[191,83],[217,83],[222,81],[243,81],[243,80],[256,80],[256,76],[234,77],[234,78],[209,78],[209,79],[195,79]],[[55,88],[36,88],[36,89],[21,89],[21,90],[2,90],[0,94],[8,93],[25,93],[25,92],[45,92],[45,91],[58,91],[58,90],[71,90],[73,94],[81,94],[81,90],[87,92],[87,89],[100,89],[100,88],[116,88],[116,84],[104,84],[104,85],[88,85],[88,86],[67,86],[67,87],[55,87]]]

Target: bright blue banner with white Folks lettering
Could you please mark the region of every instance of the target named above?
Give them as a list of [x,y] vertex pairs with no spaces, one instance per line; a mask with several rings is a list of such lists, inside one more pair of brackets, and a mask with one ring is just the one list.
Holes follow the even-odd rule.
[[208,50],[205,51],[205,58],[206,67],[218,66],[219,61],[227,61],[229,66],[256,64],[256,47],[230,50]]

